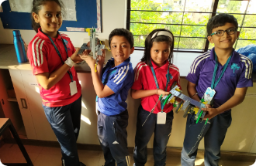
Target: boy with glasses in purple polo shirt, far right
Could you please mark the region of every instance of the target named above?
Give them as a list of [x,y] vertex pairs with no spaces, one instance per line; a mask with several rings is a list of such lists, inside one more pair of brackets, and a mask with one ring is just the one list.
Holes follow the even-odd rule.
[[[200,100],[207,88],[215,93],[213,107],[207,111],[202,137],[205,141],[205,165],[217,166],[220,160],[220,146],[223,144],[227,128],[231,124],[231,108],[242,103],[248,86],[252,86],[252,63],[246,56],[233,49],[240,32],[237,19],[233,15],[220,14],[209,19],[208,40],[214,48],[198,56],[192,63],[187,89],[189,96]],[[220,82],[218,82],[220,81]],[[198,94],[198,95],[197,95]],[[182,149],[182,165],[195,165],[199,141],[198,136],[205,123],[194,123],[195,115],[189,114]],[[196,143],[196,144],[195,144]]]

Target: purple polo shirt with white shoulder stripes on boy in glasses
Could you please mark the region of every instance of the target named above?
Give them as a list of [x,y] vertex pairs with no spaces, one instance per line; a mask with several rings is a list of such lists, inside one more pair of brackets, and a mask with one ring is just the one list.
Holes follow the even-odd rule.
[[[211,86],[215,66],[214,48],[195,58],[190,67],[187,80],[196,84],[196,91],[202,98],[206,89]],[[222,72],[223,66],[219,63],[216,71],[216,80]],[[251,59],[233,51],[230,63],[227,66],[220,82],[215,87],[213,107],[220,107],[234,96],[236,88],[253,86]]]

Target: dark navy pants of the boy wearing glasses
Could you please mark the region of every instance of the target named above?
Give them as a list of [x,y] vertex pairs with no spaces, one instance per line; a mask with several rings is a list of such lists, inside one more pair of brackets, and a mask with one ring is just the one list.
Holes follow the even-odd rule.
[[194,119],[195,115],[188,115],[182,148],[182,166],[195,165],[197,149],[202,137],[204,137],[205,141],[205,166],[218,166],[220,161],[220,146],[223,144],[227,128],[230,127],[232,121],[231,111],[221,113],[209,120],[211,124],[206,124],[206,128],[199,141],[198,136],[205,123],[195,124]]

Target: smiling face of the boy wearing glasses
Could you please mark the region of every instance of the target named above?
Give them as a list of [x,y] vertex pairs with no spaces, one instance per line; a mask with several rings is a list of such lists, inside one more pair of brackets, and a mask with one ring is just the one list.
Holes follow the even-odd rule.
[[[220,30],[228,30],[228,29],[235,29],[235,25],[233,23],[227,22],[223,26],[219,26],[212,30],[213,32],[217,32]],[[223,36],[208,36],[207,39],[209,42],[214,43],[214,46],[218,49],[231,49],[233,48],[234,43],[236,42],[240,32],[234,32],[234,34],[227,34],[227,32],[224,32]]]

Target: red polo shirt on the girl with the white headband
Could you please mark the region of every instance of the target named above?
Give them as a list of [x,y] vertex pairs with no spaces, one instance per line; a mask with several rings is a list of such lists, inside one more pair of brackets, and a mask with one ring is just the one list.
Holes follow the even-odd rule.
[[[178,67],[172,64],[169,64],[168,61],[164,64],[164,66],[158,67],[153,61],[152,66],[154,68],[154,73],[157,76],[157,83],[161,90],[165,90],[166,86],[166,74],[169,67],[169,73],[171,73],[172,78],[170,79],[170,82],[168,83],[167,91],[171,90],[171,85],[175,81],[178,83],[178,86],[180,86],[180,80],[179,80],[179,71]],[[134,83],[132,86],[133,90],[156,90],[157,86],[154,82],[154,76],[151,71],[150,66],[148,66],[144,62],[140,62],[137,64],[137,66],[134,69]],[[181,87],[181,86],[180,86]],[[144,110],[151,111],[154,107],[155,103],[157,102],[159,96],[157,94],[154,94],[149,97],[142,97],[140,99],[141,105],[144,108]],[[164,106],[164,112],[168,113],[172,110],[173,106],[172,104],[166,104]],[[161,103],[157,103],[157,107],[154,109],[153,113],[158,113],[161,111]]]

